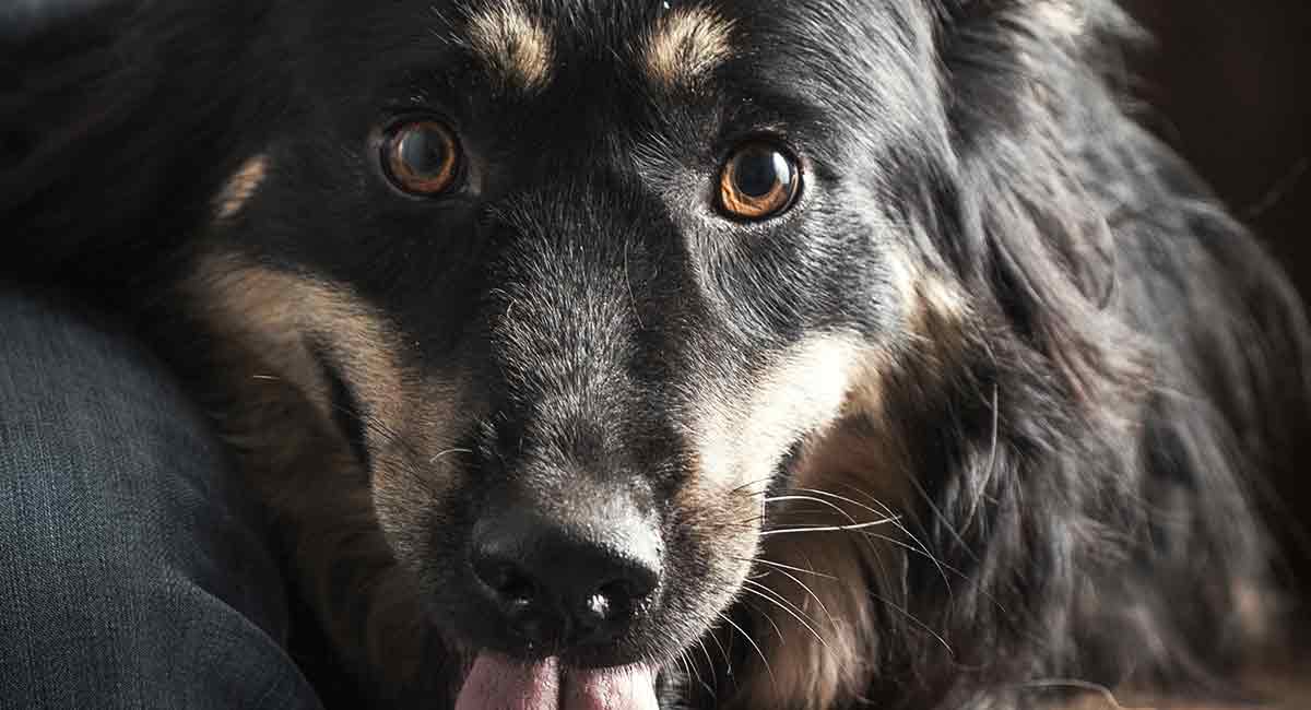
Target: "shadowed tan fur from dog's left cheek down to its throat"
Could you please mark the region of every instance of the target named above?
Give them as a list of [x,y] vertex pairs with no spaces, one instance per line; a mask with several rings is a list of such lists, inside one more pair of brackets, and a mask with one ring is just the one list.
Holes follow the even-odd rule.
[[[454,468],[437,455],[467,426],[460,388],[408,371],[399,333],[345,284],[212,254],[181,297],[208,330],[206,347],[214,347],[203,355],[235,400],[215,403],[219,423],[262,500],[296,523],[282,532],[337,650],[389,693],[422,682],[421,664],[440,639],[417,583],[396,563],[395,551],[412,544],[396,531],[416,528],[406,515],[435,504],[443,472]],[[362,414],[380,424],[366,432],[372,485],[332,424],[332,396],[308,338],[328,350]]]

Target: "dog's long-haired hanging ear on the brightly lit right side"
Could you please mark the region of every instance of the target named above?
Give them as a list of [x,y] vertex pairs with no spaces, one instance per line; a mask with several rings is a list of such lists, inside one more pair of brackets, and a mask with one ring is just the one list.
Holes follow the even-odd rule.
[[[1124,166],[1104,147],[1138,136],[1121,115],[1113,48],[1133,26],[1106,0],[958,0],[939,51],[954,136],[958,267],[1091,396],[1131,367],[1103,345],[1118,330],[1116,245],[1105,208]],[[1127,346],[1129,343],[1126,343]],[[1130,348],[1125,348],[1129,351]]]

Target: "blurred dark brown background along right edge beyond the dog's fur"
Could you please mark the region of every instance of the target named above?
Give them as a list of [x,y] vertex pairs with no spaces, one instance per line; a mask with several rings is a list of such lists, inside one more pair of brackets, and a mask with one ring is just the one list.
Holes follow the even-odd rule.
[[[1126,0],[1155,35],[1137,56],[1145,122],[1183,152],[1311,297],[1311,0]],[[1290,460],[1311,462],[1311,441]],[[1311,468],[1311,466],[1308,466]],[[1311,476],[1283,508],[1311,531]],[[1303,534],[1303,582],[1311,536]],[[1311,584],[1307,584],[1311,587]]]

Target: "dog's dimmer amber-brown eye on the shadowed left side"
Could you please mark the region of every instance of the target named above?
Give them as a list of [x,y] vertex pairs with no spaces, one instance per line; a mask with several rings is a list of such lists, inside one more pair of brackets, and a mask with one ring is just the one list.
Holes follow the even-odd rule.
[[387,177],[416,195],[438,195],[460,177],[460,145],[446,124],[414,121],[393,128],[383,141]]

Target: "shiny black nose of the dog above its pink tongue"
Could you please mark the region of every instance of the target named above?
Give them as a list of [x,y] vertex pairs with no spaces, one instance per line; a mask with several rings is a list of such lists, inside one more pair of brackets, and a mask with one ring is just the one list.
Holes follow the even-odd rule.
[[473,529],[473,571],[511,633],[564,650],[632,629],[659,587],[659,536],[636,517],[566,524],[509,512]]

